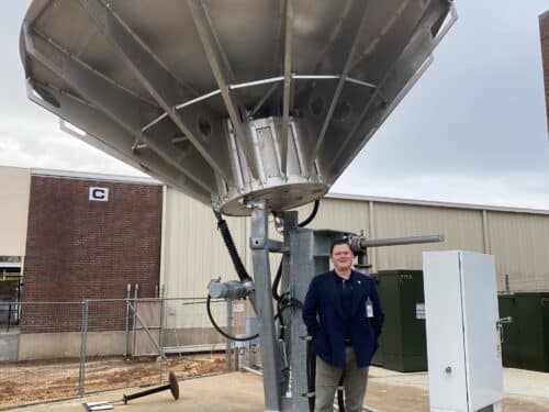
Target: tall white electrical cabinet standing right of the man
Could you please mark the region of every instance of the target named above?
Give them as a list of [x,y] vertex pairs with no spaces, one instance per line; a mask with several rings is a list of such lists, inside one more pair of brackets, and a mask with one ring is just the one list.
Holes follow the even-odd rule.
[[425,252],[423,270],[430,411],[501,411],[494,257]]

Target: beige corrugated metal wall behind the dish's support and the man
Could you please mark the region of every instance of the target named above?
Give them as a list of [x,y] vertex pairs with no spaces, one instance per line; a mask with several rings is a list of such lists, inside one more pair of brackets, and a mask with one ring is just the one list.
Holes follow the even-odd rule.
[[[300,208],[300,221],[312,204]],[[227,219],[240,256],[251,271],[248,252],[249,219]],[[549,290],[549,213],[504,212],[482,208],[411,204],[389,200],[325,198],[312,229],[360,233],[369,238],[444,234],[446,242],[369,250],[373,271],[421,269],[422,252],[466,249],[496,257],[497,285],[511,290]],[[271,229],[271,236],[280,238]],[[211,210],[168,189],[165,231],[165,277],[169,296],[203,296],[208,280],[220,275],[236,278],[215,229]],[[271,271],[278,267],[273,256]]]

